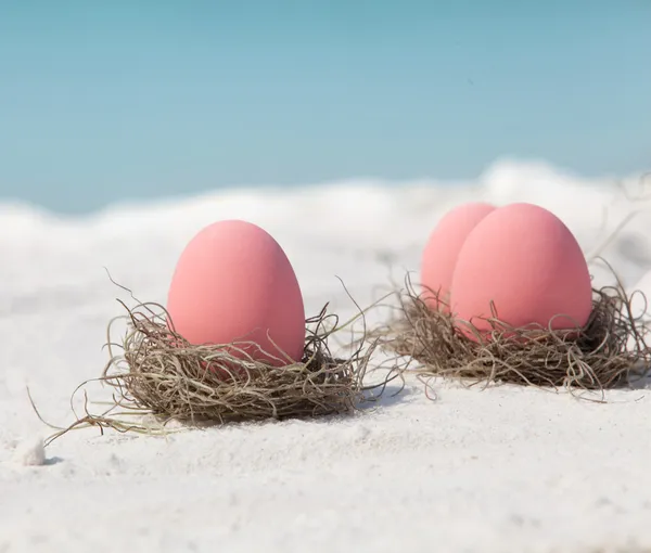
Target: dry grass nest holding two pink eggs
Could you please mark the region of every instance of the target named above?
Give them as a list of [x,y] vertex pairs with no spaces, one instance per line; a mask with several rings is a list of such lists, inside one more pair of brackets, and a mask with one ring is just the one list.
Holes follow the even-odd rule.
[[[424,294],[437,298],[432,291]],[[631,307],[638,295],[643,301],[640,316]],[[409,279],[398,297],[397,317],[370,336],[380,339],[384,349],[407,356],[407,368],[416,361],[414,372],[420,375],[452,377],[469,385],[511,383],[603,391],[630,384],[631,377],[643,378],[649,371],[646,298],[640,292],[627,296],[618,281],[593,290],[589,321],[569,331],[513,329],[494,311],[486,319],[492,330],[482,335],[471,323],[455,324],[449,312],[429,308]],[[477,342],[463,335],[459,323]]]

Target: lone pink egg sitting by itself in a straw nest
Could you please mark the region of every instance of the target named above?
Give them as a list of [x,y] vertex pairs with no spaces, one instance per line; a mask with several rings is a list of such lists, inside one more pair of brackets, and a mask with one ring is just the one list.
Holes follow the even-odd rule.
[[169,286],[167,310],[191,344],[253,342],[284,358],[280,348],[290,359],[275,361],[259,350],[257,356],[277,365],[303,355],[305,310],[294,269],[278,242],[250,222],[219,221],[190,241]]

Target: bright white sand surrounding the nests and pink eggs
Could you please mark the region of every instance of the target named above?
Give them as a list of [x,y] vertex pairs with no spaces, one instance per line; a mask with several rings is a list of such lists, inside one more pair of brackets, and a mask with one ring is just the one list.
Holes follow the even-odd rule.
[[[103,267],[138,296],[164,301],[192,234],[245,218],[283,245],[308,311],[331,301],[348,316],[355,309],[335,275],[368,304],[418,269],[442,211],[480,197],[552,209],[587,253],[636,207],[605,181],[513,163],[455,188],[348,182],[219,193],[84,220],[0,207],[0,552],[651,548],[647,389],[598,404],[438,383],[430,401],[411,382],[355,416],[168,438],[88,429],[42,458],[48,429],[25,385],[49,420],[71,422],[69,394],[103,368],[105,325],[122,314],[115,298],[125,295]],[[642,215],[605,250],[627,286],[651,270],[650,239]],[[642,283],[651,292],[651,275]]]

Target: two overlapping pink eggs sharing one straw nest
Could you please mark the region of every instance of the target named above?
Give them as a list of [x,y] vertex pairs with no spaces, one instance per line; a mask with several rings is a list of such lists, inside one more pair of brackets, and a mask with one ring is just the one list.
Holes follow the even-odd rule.
[[[449,309],[458,326],[584,326],[592,310],[588,265],[567,227],[532,204],[464,204],[449,211],[423,252],[423,299]],[[434,292],[435,294],[432,294]]]

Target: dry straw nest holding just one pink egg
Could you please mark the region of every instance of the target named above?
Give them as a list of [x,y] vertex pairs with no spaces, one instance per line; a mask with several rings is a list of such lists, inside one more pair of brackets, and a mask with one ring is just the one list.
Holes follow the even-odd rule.
[[[378,340],[363,340],[345,358],[334,357],[329,338],[357,318],[340,325],[328,306],[306,321],[303,357],[291,362],[280,350],[271,355],[247,342],[192,345],[174,330],[163,306],[141,303],[130,309],[119,303],[127,311],[122,344],[111,337],[114,323],[124,319],[116,318],[107,330],[107,365],[99,378],[75,389],[71,406],[76,421],[64,428],[50,425],[58,432],[48,443],[88,426],[165,434],[170,421],[205,425],[346,413],[361,401],[378,399],[388,382],[401,378],[390,368],[380,384],[365,387],[367,372],[384,369],[379,364],[368,371]],[[86,387],[97,382],[113,388],[113,400],[103,412],[92,414]],[[74,404],[80,393],[84,413],[77,414]],[[36,410],[34,401],[33,407]]]

